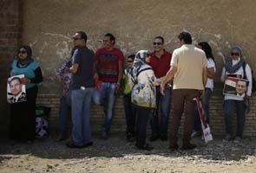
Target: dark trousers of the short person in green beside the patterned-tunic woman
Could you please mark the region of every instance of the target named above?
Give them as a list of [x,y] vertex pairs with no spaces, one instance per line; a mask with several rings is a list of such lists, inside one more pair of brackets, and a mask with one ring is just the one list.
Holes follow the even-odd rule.
[[123,105],[125,110],[127,134],[135,136],[136,108],[132,106],[130,94],[123,96]]

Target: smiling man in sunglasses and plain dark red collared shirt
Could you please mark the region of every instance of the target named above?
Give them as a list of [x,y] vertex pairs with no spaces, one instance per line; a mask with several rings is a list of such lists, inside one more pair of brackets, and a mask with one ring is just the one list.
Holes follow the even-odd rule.
[[172,54],[167,52],[164,48],[164,38],[161,36],[156,36],[153,42],[154,52],[150,54],[151,60],[149,65],[154,70],[154,75],[156,77],[156,106],[161,109],[161,118],[159,122],[158,108],[154,111],[153,116],[150,118],[152,135],[150,140],[155,141],[161,138],[162,141],[167,140],[167,126],[171,107],[171,95],[172,88],[170,86],[165,86],[164,93],[160,93],[161,80],[167,74],[170,69],[170,62],[172,59]]

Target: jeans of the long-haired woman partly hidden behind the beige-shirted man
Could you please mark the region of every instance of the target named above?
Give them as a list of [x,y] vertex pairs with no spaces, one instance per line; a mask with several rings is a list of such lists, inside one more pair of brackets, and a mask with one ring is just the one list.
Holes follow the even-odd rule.
[[[202,102],[202,106],[204,108],[204,112],[205,112],[205,116],[207,119],[207,124],[209,124],[210,122],[210,98],[212,96],[212,90],[211,88],[206,88],[205,89],[205,94],[203,96],[203,98],[201,99]],[[197,111],[197,108],[195,109],[195,113],[194,113],[194,131],[202,131],[201,129],[201,123],[200,123],[200,115]]]

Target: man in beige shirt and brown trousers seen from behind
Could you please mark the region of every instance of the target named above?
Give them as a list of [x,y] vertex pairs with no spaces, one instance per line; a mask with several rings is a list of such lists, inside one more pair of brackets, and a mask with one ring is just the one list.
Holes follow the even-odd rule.
[[189,33],[181,32],[178,38],[181,42],[181,48],[174,50],[171,68],[161,82],[161,94],[164,95],[164,88],[167,82],[174,78],[174,119],[171,126],[169,146],[171,151],[175,151],[179,147],[177,133],[181,123],[181,115],[184,111],[185,122],[182,149],[190,150],[196,147],[195,144],[190,143],[190,136],[194,127],[194,98],[204,92],[207,83],[206,54],[203,50],[192,45],[192,38]]

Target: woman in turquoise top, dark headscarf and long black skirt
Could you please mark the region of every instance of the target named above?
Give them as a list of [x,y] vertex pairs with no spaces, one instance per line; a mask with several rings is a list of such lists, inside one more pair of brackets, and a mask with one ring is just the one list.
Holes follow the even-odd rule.
[[21,75],[25,84],[26,101],[10,105],[10,138],[32,143],[36,132],[36,94],[37,84],[43,81],[38,62],[32,59],[29,46],[19,48],[17,59],[11,64],[10,77]]

